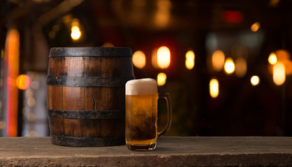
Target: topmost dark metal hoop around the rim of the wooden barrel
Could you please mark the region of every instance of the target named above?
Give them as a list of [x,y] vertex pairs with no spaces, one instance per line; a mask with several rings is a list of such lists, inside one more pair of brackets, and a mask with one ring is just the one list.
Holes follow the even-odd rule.
[[99,57],[131,57],[129,47],[52,47],[49,57],[56,56],[99,56]]

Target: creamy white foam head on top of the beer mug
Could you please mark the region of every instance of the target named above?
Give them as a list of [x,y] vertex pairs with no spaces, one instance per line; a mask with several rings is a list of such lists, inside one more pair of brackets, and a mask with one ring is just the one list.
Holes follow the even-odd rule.
[[152,95],[157,93],[155,79],[133,79],[126,83],[126,95]]

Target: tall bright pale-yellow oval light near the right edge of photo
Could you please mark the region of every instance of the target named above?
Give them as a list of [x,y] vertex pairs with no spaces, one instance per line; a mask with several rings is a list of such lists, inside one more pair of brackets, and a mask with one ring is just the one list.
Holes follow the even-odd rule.
[[280,86],[284,84],[285,79],[285,66],[282,62],[278,62],[273,67],[273,81],[277,86]]

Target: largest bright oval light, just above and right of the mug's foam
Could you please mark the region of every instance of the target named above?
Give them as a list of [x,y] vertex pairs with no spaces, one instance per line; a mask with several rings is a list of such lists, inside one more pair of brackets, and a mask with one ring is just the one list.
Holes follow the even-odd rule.
[[159,47],[157,51],[157,64],[160,68],[170,66],[170,49],[168,47]]

